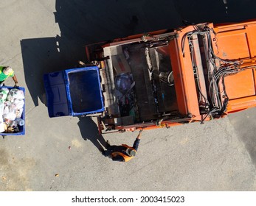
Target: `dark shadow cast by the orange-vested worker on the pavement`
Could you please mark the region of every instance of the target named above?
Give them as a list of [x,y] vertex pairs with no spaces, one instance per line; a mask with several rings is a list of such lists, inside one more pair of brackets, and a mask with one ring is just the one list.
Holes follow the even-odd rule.
[[91,141],[100,152],[103,152],[107,145],[103,135],[99,134],[97,124],[90,117],[79,117],[77,125],[83,139]]

